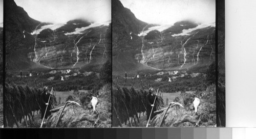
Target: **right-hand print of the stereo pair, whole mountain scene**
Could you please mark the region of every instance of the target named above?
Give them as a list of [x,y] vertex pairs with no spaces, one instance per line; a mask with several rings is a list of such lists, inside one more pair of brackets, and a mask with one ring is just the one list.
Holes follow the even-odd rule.
[[220,126],[215,0],[112,1],[112,61],[112,126]]

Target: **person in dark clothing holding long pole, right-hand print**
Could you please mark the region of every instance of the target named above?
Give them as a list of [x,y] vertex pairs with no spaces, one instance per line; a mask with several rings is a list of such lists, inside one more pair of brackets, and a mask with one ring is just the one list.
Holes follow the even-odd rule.
[[[156,101],[157,101],[157,97],[156,97],[157,94],[156,95],[153,94],[153,88],[150,88],[148,92],[149,93],[146,95],[146,98],[147,98],[146,120],[148,119],[152,120],[153,117],[155,116],[154,112],[156,111],[156,105],[154,105],[154,100],[156,98]],[[153,110],[152,110],[152,107],[153,107]],[[151,110],[152,110],[152,113],[151,113]],[[151,114],[151,118],[150,118],[150,114]]]

